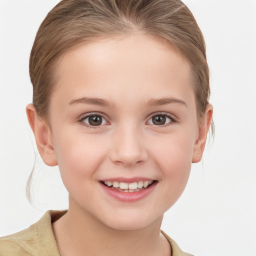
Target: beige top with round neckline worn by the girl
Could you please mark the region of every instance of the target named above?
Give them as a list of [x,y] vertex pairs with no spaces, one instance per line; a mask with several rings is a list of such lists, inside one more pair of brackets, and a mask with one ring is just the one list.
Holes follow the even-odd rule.
[[[66,210],[48,210],[28,228],[0,237],[0,256],[59,256],[51,223],[65,213]],[[171,246],[172,256],[191,256],[183,252],[167,234],[161,233]]]

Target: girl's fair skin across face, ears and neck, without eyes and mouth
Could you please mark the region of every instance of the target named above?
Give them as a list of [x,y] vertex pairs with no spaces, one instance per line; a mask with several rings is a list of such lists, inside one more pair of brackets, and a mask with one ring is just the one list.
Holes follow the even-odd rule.
[[[98,39],[59,60],[47,122],[32,104],[27,116],[43,161],[59,166],[69,192],[68,212],[52,224],[61,255],[170,255],[160,234],[163,213],[200,161],[212,115],[208,104],[198,123],[191,81],[187,61],[145,34]],[[81,120],[89,113],[103,116],[102,125]],[[170,119],[156,125],[157,114]],[[137,176],[157,184],[135,202],[112,198],[99,185]]]

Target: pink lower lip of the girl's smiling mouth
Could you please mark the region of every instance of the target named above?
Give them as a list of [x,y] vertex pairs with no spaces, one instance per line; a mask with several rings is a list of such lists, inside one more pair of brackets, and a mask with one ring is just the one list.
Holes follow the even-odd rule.
[[99,184],[104,189],[104,191],[115,199],[122,202],[134,202],[141,200],[145,196],[147,196],[152,190],[155,188],[157,182],[153,182],[150,186],[137,191],[137,192],[121,192],[119,190],[115,190],[108,186],[103,185],[101,182]]

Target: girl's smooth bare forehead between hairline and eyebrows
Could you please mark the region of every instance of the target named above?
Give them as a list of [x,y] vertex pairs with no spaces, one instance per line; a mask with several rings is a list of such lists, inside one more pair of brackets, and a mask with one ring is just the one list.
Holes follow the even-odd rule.
[[[193,94],[190,66],[164,39],[145,34],[101,38],[64,54],[53,96],[135,100]],[[189,93],[188,93],[189,91]],[[108,95],[106,95],[108,93]],[[166,95],[170,93],[171,95]],[[181,95],[183,94],[183,95]]]

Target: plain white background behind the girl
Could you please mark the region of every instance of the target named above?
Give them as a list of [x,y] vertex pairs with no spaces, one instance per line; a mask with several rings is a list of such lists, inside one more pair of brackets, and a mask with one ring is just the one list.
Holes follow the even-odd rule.
[[[25,185],[34,161],[25,106],[36,30],[58,0],[0,0],[0,236],[67,208],[58,169],[36,164],[34,205]],[[256,255],[256,1],[184,0],[205,36],[215,139],[192,166],[162,229],[197,256]]]

